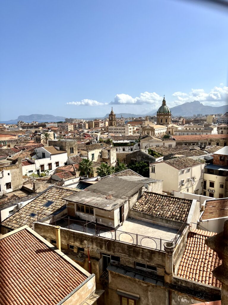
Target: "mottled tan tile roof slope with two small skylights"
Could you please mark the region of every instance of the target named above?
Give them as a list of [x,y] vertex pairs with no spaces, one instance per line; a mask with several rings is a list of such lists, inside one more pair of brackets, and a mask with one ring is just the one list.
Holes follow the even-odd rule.
[[[23,225],[31,227],[33,222],[37,221],[37,213],[39,215],[51,215],[66,204],[66,201],[62,199],[63,197],[76,194],[76,192],[78,191],[70,188],[52,186],[27,203],[26,206],[23,206],[17,213],[2,221],[2,225],[13,230]],[[53,203],[48,207],[43,206],[48,200],[53,201]],[[31,213],[34,213],[35,216],[31,216]]]

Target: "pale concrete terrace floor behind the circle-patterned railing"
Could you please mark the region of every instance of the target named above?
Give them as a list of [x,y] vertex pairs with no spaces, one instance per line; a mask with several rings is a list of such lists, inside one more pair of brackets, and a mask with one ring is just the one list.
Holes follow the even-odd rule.
[[[95,226],[91,224],[83,229],[79,223],[71,223],[70,229],[96,235]],[[176,229],[128,218],[116,230],[98,226],[97,236],[164,251],[164,242],[174,240],[177,233]]]

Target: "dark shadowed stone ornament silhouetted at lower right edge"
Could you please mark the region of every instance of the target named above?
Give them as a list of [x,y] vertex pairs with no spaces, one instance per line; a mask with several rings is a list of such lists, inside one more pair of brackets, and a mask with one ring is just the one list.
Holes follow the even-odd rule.
[[222,264],[215,268],[213,275],[222,282],[221,305],[228,304],[228,220],[224,223],[223,232],[211,236],[205,240],[207,246],[215,250],[223,260]]

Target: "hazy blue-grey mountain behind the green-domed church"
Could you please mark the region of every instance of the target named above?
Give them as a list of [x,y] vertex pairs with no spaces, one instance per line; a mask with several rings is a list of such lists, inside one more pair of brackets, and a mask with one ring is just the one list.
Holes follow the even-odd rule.
[[[167,104],[167,106],[169,106]],[[217,113],[225,113],[228,111],[228,105],[220,106],[220,107],[212,107],[212,106],[204,106],[199,101],[187,102],[175,107],[170,108],[171,114],[173,116],[185,116],[190,117],[194,114],[202,113],[205,114],[217,114]],[[156,112],[149,112],[147,114],[156,115]]]

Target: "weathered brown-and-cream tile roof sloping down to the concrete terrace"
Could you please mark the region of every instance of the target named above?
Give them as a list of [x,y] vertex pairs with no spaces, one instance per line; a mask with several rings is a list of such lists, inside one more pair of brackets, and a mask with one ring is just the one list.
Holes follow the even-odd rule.
[[185,222],[192,204],[192,200],[144,192],[133,206],[132,210],[153,216]]

